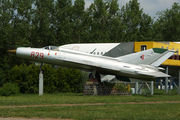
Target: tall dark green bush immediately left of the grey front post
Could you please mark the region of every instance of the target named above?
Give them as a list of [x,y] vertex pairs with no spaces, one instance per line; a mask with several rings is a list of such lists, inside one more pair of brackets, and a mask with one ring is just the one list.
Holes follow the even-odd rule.
[[11,70],[11,82],[19,85],[21,93],[38,93],[39,66],[22,64]]

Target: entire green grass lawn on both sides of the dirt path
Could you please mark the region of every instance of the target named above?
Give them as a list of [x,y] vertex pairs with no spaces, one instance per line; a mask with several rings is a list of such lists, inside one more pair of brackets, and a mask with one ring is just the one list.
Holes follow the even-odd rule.
[[[180,101],[180,95],[83,96],[77,93],[0,96],[0,106]],[[69,119],[180,119],[180,103],[2,108],[1,117]]]

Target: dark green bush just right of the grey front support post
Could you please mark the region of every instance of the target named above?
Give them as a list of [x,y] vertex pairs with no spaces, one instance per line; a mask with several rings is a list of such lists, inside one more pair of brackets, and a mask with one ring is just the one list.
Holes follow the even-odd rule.
[[44,83],[45,91],[49,93],[54,91],[79,93],[83,91],[83,75],[77,69],[58,67],[51,74],[49,80]]

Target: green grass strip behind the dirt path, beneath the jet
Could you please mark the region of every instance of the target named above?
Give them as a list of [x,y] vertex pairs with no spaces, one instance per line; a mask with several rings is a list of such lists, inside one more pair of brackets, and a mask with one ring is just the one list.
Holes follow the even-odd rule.
[[177,101],[179,95],[132,95],[132,96],[83,96],[77,93],[58,94],[19,94],[0,96],[0,106],[12,105],[45,105],[45,104],[82,104],[82,103],[121,103],[146,101]]

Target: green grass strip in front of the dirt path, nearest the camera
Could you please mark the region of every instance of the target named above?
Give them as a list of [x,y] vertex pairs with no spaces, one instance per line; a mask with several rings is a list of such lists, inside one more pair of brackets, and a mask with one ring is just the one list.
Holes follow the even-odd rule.
[[60,106],[0,108],[2,117],[69,119],[180,119],[180,104],[134,104],[102,106]]

